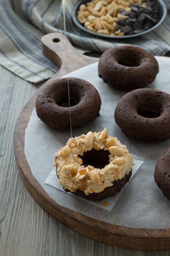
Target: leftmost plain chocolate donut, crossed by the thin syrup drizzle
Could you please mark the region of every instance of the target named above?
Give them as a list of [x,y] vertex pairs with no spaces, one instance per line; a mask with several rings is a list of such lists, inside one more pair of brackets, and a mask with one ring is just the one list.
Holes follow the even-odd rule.
[[[70,105],[68,105],[68,83]],[[36,99],[37,116],[51,128],[57,130],[84,127],[99,116],[101,98],[89,82],[69,77],[48,83]]]

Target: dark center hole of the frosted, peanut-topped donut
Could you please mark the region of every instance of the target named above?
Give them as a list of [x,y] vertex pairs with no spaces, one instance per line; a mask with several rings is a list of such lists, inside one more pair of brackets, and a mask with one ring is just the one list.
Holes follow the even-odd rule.
[[82,159],[83,165],[88,165],[94,168],[103,169],[109,164],[109,151],[108,150],[95,150],[94,148],[90,151],[84,152],[82,156],[78,156]]

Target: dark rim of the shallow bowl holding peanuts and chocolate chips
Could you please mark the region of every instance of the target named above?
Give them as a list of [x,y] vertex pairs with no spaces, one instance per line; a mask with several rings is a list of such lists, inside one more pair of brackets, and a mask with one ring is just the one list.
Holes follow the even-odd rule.
[[167,7],[166,4],[164,3],[163,0],[154,0],[154,2],[156,4],[159,5],[159,13],[158,13],[158,23],[156,23],[152,28],[145,30],[143,32],[137,33],[137,34],[132,34],[132,35],[105,35],[105,34],[99,34],[96,32],[93,32],[87,28],[85,28],[83,26],[83,24],[79,23],[78,19],[77,19],[77,12],[79,10],[79,6],[81,4],[86,4],[87,2],[90,2],[90,0],[80,0],[78,1],[74,8],[73,8],[73,12],[72,12],[72,18],[73,18],[73,22],[75,23],[75,25],[77,27],[79,27],[80,29],[82,29],[83,31],[97,36],[97,37],[101,37],[101,38],[108,38],[108,39],[128,39],[128,38],[134,38],[134,37],[139,37],[140,35],[146,34],[151,32],[152,30],[156,29],[157,27],[159,27],[165,20],[166,16],[167,16]]

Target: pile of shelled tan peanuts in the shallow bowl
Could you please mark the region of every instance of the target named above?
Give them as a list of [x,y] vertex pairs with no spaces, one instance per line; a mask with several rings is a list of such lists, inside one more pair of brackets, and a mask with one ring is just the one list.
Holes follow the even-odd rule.
[[92,0],[80,5],[77,19],[85,28],[93,32],[114,36],[125,35],[121,29],[116,30],[115,27],[118,19],[129,18],[121,12],[130,12],[129,5],[134,3],[146,7],[146,3],[142,0]]

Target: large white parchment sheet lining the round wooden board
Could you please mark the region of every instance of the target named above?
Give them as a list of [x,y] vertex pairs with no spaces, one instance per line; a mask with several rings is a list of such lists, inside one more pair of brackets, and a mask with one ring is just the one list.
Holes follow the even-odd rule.
[[[156,57],[159,73],[149,88],[170,93],[169,70],[170,58]],[[159,143],[145,143],[128,138],[114,121],[114,109],[127,91],[119,91],[108,86],[98,77],[98,62],[69,73],[69,77],[79,77],[92,83],[98,90],[102,106],[100,116],[81,129],[73,130],[73,137],[88,131],[101,131],[105,127],[108,134],[117,137],[127,145],[130,153],[144,158],[144,163],[130,179],[119,195],[111,210],[92,205],[89,201],[65,193],[45,184],[53,170],[55,152],[64,146],[71,137],[70,131],[56,131],[47,127],[32,112],[25,132],[25,155],[35,179],[47,194],[58,204],[73,209],[87,216],[125,227],[134,228],[170,228],[170,200],[164,197],[154,181],[154,169],[160,155],[170,147],[170,140]],[[114,198],[113,198],[114,199]]]

